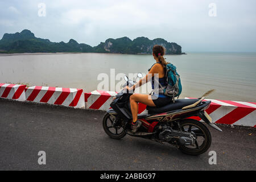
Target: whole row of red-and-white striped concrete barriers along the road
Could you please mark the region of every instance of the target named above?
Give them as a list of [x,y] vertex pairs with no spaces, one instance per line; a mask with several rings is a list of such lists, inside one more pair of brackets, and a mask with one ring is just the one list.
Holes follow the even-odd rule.
[[[0,98],[17,101],[38,102],[52,105],[63,105],[74,108],[110,109],[110,103],[116,92],[94,90],[84,93],[82,89],[55,88],[49,86],[31,86],[17,84],[0,84]],[[188,97],[185,97],[189,99]],[[241,101],[212,101],[207,113],[214,123],[256,127],[256,103]],[[139,114],[146,113],[146,105],[139,103]],[[199,117],[191,117],[201,120]]]

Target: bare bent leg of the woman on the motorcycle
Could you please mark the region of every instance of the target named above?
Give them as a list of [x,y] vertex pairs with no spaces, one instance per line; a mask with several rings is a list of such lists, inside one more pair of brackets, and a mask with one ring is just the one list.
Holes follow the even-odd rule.
[[150,95],[133,94],[130,97],[131,114],[133,115],[133,122],[136,122],[138,119],[138,110],[139,110],[138,102],[141,102],[142,104],[145,104],[148,106],[155,106]]

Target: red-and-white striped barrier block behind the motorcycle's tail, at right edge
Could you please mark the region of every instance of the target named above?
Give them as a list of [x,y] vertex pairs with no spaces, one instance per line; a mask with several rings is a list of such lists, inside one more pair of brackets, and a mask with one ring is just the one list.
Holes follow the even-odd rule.
[[[214,123],[256,127],[256,103],[213,99],[204,101],[212,101],[206,111]],[[199,117],[193,118],[201,120]]]

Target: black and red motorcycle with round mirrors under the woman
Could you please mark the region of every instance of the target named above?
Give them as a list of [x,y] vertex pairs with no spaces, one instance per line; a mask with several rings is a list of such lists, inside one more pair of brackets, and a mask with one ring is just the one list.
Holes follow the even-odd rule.
[[[138,73],[137,77],[142,77]],[[133,86],[135,81],[124,77],[127,86]],[[126,134],[133,137],[151,139],[160,143],[170,143],[181,152],[189,155],[200,155],[206,152],[212,143],[212,137],[208,127],[222,131],[214,125],[212,118],[205,111],[210,101],[203,101],[204,97],[196,99],[177,99],[175,103],[162,107],[147,106],[146,113],[138,114],[138,120],[142,122],[137,133],[132,133],[132,115],[130,109],[130,96],[133,93],[122,89],[113,99],[112,107],[104,115],[102,125],[106,134],[113,139],[121,139]],[[203,122],[189,117],[198,116]]]

